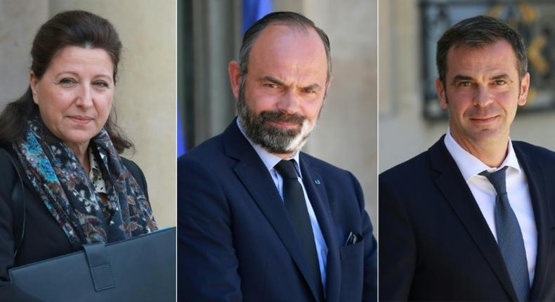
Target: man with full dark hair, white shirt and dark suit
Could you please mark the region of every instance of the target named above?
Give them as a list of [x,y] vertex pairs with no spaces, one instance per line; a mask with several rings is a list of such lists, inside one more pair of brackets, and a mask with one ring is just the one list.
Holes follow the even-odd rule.
[[554,301],[555,153],[509,138],[530,74],[523,39],[478,16],[437,44],[449,128],[379,176],[384,301]]

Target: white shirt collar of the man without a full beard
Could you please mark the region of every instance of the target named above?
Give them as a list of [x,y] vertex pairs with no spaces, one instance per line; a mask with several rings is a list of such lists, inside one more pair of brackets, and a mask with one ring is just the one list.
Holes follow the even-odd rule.
[[471,155],[468,151],[464,150],[457,141],[451,136],[451,131],[448,128],[447,133],[445,134],[445,138],[443,139],[443,143],[445,143],[445,147],[455,159],[459,170],[461,171],[462,177],[464,180],[468,182],[470,178],[473,176],[478,175],[478,173],[488,170],[489,172],[497,171],[502,169],[504,166],[509,166],[509,170],[513,169],[517,173],[521,172],[521,166],[518,164],[518,159],[516,159],[516,154],[513,149],[513,143],[511,138],[509,138],[508,148],[507,148],[507,157],[505,157],[504,161],[499,167],[490,167],[481,162],[480,159]]

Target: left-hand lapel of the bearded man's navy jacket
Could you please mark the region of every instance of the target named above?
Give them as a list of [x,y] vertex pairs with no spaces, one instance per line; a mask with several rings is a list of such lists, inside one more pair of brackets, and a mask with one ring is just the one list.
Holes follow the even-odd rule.
[[[275,188],[272,176],[237,127],[236,119],[223,133],[223,144],[226,155],[238,160],[233,168],[235,174],[259,206],[263,215],[266,216],[308,283],[308,268],[306,268],[306,261],[303,260],[301,245],[295,235],[287,209]],[[309,284],[309,287],[316,298],[318,294],[316,294],[314,284]]]

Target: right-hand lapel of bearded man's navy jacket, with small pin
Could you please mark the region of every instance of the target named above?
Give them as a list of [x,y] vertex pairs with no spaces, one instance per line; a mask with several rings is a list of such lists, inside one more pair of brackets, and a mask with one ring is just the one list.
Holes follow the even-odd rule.
[[325,180],[320,174],[313,171],[310,166],[309,157],[300,155],[301,172],[303,184],[308,199],[318,219],[318,225],[322,230],[327,245],[326,263],[326,301],[339,301],[339,287],[341,283],[341,262],[339,258],[338,240],[335,237],[332,212],[329,209],[329,201],[325,191]]

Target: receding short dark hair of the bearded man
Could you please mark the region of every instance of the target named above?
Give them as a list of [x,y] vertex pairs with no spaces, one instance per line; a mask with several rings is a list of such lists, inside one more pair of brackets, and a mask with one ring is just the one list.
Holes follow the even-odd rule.
[[329,81],[332,77],[332,55],[330,52],[329,38],[327,37],[327,34],[322,29],[318,28],[312,20],[306,18],[300,13],[293,13],[291,11],[268,13],[268,15],[265,15],[263,18],[256,21],[256,23],[249,27],[247,32],[244,33],[241,50],[239,52],[239,62],[243,78],[248,72],[247,65],[249,65],[249,56],[251,54],[252,46],[254,45],[254,42],[260,32],[262,32],[263,29],[269,25],[287,25],[301,30],[306,30],[308,28],[314,29],[318,33],[318,36],[320,36],[320,39],[322,39],[322,44],[324,44],[327,59],[326,81]]

